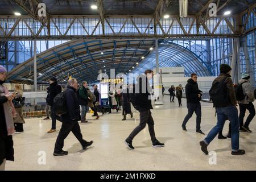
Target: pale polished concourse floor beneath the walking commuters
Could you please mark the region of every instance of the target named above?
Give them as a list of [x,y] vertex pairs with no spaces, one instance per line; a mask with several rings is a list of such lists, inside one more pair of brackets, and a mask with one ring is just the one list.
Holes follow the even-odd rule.
[[[183,106],[170,103],[164,96],[164,105],[154,106],[152,116],[155,133],[165,147],[152,148],[148,129],[144,129],[133,140],[135,150],[128,150],[125,138],[139,123],[139,113],[134,119],[122,114],[104,114],[95,120],[88,113],[88,123],[80,123],[86,140],[93,140],[93,146],[81,150],[79,142],[71,133],[65,139],[66,156],[53,156],[53,147],[58,132],[47,134],[51,121],[42,118],[26,119],[24,133],[14,135],[15,162],[7,162],[6,170],[255,170],[256,169],[256,119],[251,122],[253,133],[240,134],[240,148],[246,155],[230,154],[230,139],[214,139],[209,151],[216,152],[216,158],[204,155],[199,142],[204,136],[195,133],[195,115],[187,125],[188,132],[181,130],[181,123],[187,114],[185,100]],[[207,134],[216,123],[211,104],[202,103],[202,130]],[[57,122],[57,130],[61,123]],[[228,125],[225,125],[224,134]],[[44,154],[46,158],[44,158]],[[214,155],[215,156],[215,155]],[[44,160],[45,159],[45,160]],[[216,160],[215,160],[216,159]],[[210,161],[210,162],[209,162]],[[44,164],[45,162],[45,164]],[[214,162],[214,163],[212,163]]]

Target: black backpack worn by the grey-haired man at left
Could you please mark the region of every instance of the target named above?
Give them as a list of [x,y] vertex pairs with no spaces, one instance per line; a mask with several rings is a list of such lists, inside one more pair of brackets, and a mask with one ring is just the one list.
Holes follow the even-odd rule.
[[53,105],[55,109],[56,115],[62,115],[68,113],[67,105],[66,105],[66,92],[58,93],[57,96],[53,100]]

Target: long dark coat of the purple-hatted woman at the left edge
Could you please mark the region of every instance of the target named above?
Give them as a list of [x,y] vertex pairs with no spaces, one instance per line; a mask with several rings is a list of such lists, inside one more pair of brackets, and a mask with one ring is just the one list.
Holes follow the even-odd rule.
[[5,112],[3,110],[3,104],[7,101],[8,99],[5,96],[0,96],[0,164],[4,159],[14,161],[13,136],[7,136]]

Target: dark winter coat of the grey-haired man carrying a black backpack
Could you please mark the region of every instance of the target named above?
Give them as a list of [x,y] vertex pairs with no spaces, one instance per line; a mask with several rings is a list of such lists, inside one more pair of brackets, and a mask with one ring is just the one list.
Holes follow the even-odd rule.
[[72,121],[80,121],[80,106],[79,100],[77,98],[76,89],[72,86],[68,86],[67,90],[65,91],[65,100],[68,109],[67,114],[61,115],[61,121],[63,122],[72,122]]

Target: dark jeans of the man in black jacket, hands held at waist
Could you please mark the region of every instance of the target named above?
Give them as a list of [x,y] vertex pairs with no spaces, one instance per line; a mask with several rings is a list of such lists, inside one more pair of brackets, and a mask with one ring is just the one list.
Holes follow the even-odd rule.
[[190,119],[193,115],[193,113],[196,113],[196,130],[200,130],[201,129],[201,104],[200,102],[197,104],[192,104],[189,103],[187,104],[187,108],[188,108],[188,114],[186,115],[186,117],[184,118],[184,121],[182,123],[182,126],[185,127],[188,119]]

